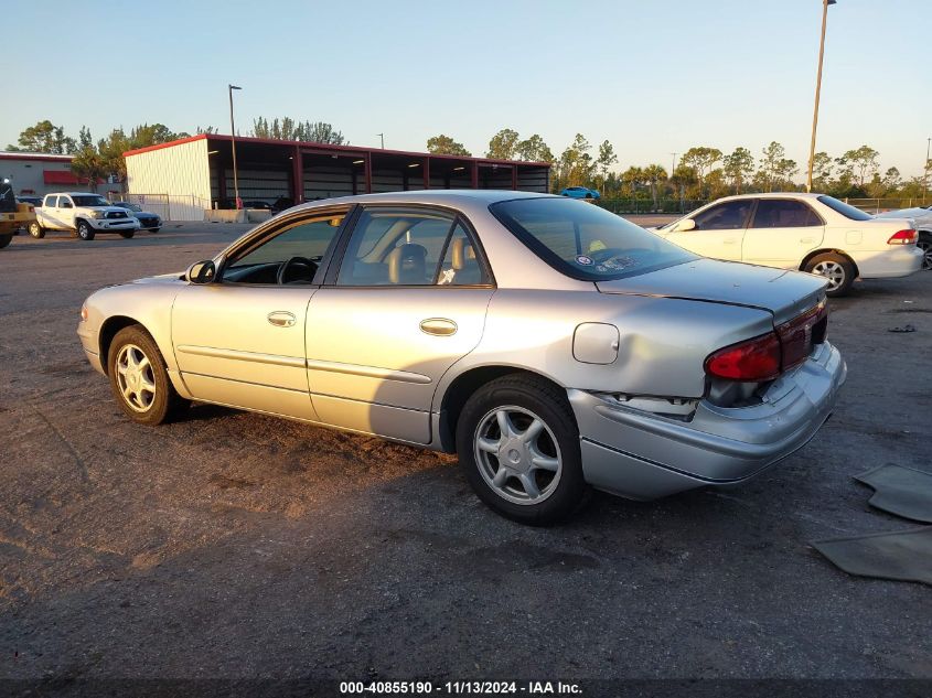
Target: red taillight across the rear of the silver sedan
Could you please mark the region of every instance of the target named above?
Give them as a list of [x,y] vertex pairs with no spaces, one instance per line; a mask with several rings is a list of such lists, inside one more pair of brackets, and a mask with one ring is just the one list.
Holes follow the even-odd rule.
[[815,344],[825,342],[828,309],[825,301],[764,334],[726,346],[706,359],[706,373],[716,378],[761,383],[802,364]]

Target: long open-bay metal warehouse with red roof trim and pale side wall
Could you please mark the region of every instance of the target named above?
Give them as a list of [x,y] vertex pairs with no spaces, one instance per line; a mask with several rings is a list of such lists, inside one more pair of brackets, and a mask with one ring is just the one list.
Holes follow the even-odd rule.
[[[204,133],[125,154],[131,197],[173,221],[233,206],[229,136]],[[549,163],[435,155],[355,146],[236,138],[239,198],[296,204],[421,189],[547,192]]]

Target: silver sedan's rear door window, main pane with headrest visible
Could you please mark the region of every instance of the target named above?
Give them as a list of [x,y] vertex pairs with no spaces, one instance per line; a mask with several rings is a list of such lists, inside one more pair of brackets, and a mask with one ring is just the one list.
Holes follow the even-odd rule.
[[453,216],[437,211],[394,207],[364,210],[340,265],[336,284],[436,283],[440,259],[444,256],[453,223]]

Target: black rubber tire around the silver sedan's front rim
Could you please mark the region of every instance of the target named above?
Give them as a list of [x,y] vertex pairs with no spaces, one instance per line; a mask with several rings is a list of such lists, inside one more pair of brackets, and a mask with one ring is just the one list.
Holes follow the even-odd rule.
[[[120,378],[118,377],[120,371],[117,367],[117,361],[120,358],[124,347],[127,347],[128,351],[137,347],[148,359],[151,371],[147,371],[146,375],[149,382],[154,385],[154,394],[152,394],[151,402],[148,405],[133,401],[132,396],[126,397],[124,395],[124,388],[120,386]],[[161,425],[172,421],[184,412],[191,404],[174,389],[162,353],[159,351],[156,341],[141,325],[130,325],[117,332],[107,355],[107,375],[110,378],[110,389],[120,409],[132,421],[140,425]],[[124,378],[124,380],[127,379]]]

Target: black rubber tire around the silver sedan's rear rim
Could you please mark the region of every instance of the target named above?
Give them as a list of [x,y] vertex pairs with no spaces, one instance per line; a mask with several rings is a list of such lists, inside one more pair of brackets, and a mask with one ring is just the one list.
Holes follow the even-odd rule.
[[[547,439],[549,449],[556,445],[556,460],[559,461],[559,466],[550,482],[544,483],[540,502],[522,504],[510,501],[506,498],[507,492],[500,494],[499,490],[486,480],[488,472],[483,475],[485,464],[480,462],[481,458],[486,459],[485,463],[491,463],[494,459],[500,470],[503,465],[497,457],[490,454],[478,457],[480,449],[476,440],[482,436],[480,429],[491,423],[489,420],[499,408],[505,407],[528,410],[532,414],[528,419],[536,417],[544,422],[545,429],[540,433]],[[539,447],[539,440],[535,440],[535,443]],[[538,452],[539,450],[542,449],[538,448]],[[457,452],[467,480],[479,498],[494,512],[512,520],[533,526],[554,524],[570,515],[583,502],[587,486],[582,476],[576,418],[566,393],[540,378],[504,376],[476,390],[467,400],[457,422]],[[516,453],[514,450],[510,452]],[[551,454],[553,452],[547,455]],[[514,482],[512,487],[518,485],[518,475],[508,476],[503,481],[501,488],[505,491],[508,482]],[[535,485],[538,484],[539,482],[535,483]],[[548,488],[550,491],[546,492]]]

